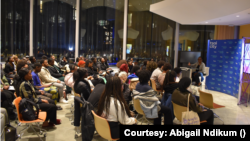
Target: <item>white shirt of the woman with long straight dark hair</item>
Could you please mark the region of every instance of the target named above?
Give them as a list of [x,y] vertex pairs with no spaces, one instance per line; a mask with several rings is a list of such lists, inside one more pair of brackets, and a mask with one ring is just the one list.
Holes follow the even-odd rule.
[[[124,109],[125,113],[122,113],[121,110],[121,104],[120,102],[117,101],[117,106],[118,106],[118,119],[117,119],[117,111],[115,109],[115,103],[114,103],[114,98],[110,98],[110,106],[109,106],[109,116],[106,117],[108,121],[113,121],[113,122],[120,122],[123,125],[132,125],[135,124],[135,118],[134,117],[129,117],[126,114],[126,110]],[[105,111],[103,112],[102,117],[105,117]]]

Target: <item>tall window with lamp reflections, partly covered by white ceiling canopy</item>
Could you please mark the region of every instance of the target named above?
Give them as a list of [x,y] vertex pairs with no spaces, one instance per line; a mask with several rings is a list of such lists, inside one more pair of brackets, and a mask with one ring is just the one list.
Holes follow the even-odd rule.
[[149,12],[161,0],[130,0],[127,58],[174,62],[175,22]]

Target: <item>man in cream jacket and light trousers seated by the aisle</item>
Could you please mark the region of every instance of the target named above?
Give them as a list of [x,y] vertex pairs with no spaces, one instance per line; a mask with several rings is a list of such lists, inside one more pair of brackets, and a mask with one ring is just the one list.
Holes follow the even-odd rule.
[[56,79],[55,77],[52,77],[49,70],[46,68],[48,67],[48,61],[47,60],[41,60],[40,63],[42,64],[41,72],[38,73],[41,81],[43,84],[53,83],[54,86],[56,86],[59,90],[60,95],[60,103],[68,103],[66,101],[66,93],[64,91],[65,83]]

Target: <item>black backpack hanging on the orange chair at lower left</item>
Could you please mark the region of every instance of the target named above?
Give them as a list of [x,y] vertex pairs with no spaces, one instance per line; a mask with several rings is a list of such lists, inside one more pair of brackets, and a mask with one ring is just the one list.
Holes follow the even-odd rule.
[[35,102],[30,99],[23,98],[19,103],[19,113],[22,114],[23,120],[32,121],[38,119],[39,108]]

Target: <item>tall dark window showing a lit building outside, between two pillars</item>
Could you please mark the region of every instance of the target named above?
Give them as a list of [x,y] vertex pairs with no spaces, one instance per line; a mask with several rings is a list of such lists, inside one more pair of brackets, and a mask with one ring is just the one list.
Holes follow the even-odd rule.
[[79,55],[122,58],[124,0],[81,0]]

